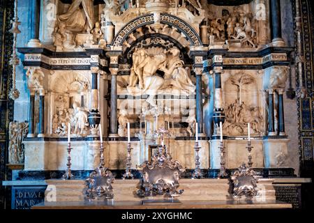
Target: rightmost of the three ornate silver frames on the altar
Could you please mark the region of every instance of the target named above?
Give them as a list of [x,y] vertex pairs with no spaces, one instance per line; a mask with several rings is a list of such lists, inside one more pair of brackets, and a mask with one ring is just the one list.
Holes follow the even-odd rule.
[[247,168],[245,163],[241,164],[237,171],[234,171],[231,176],[234,183],[234,198],[241,198],[243,195],[253,198],[257,195],[257,178],[255,175],[255,171],[251,167]]

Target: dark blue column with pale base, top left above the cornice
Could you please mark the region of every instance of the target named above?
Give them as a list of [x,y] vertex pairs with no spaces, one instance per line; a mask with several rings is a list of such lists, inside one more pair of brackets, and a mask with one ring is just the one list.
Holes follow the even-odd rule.
[[28,47],[41,47],[39,38],[40,23],[40,0],[31,0],[31,40],[27,43]]

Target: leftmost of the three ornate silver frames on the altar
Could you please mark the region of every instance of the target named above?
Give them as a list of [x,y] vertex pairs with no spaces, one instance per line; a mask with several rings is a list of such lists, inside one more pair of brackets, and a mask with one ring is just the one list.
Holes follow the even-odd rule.
[[85,195],[87,199],[112,199],[114,194],[112,192],[112,183],[114,177],[111,171],[107,170],[106,167],[97,167],[90,175],[85,184],[87,190]]

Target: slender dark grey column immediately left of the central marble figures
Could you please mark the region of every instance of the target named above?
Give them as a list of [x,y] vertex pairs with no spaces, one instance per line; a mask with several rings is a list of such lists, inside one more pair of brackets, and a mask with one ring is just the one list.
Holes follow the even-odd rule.
[[110,134],[109,137],[118,137],[118,101],[117,101],[117,74],[118,68],[110,68],[111,92],[110,92]]

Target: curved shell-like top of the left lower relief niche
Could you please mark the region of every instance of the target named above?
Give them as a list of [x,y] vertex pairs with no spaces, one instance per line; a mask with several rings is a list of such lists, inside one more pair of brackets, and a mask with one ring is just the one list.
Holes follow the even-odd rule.
[[89,90],[89,79],[79,72],[59,72],[52,80],[52,91],[57,93],[80,93]]

